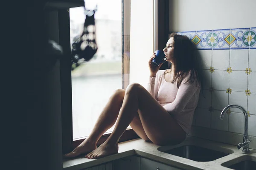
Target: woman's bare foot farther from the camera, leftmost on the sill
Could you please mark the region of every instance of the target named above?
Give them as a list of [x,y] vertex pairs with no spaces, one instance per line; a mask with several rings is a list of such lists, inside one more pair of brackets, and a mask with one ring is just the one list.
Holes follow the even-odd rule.
[[96,148],[97,148],[97,146],[95,143],[89,142],[85,139],[84,142],[82,142],[81,144],[79,144],[78,147],[76,147],[76,149],[74,149],[70,153],[65,154],[64,158],[73,158],[73,157],[79,156],[81,154],[87,154],[87,153],[95,150]]

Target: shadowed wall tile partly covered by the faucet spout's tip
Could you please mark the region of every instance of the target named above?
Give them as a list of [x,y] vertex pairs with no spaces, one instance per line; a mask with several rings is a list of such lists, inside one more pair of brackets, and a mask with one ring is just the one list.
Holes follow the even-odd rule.
[[223,120],[220,119],[221,111],[212,111],[211,128],[217,130],[228,131],[228,114],[225,113]]

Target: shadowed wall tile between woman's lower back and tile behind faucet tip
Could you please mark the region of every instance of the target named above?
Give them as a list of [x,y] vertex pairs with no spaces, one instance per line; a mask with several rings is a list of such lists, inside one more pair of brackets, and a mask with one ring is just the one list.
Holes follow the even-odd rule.
[[211,127],[211,112],[208,109],[197,108],[195,110],[195,125]]

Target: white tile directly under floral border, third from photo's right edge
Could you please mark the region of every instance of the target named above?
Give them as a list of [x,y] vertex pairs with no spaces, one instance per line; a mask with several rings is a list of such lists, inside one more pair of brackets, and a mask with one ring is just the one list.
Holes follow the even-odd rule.
[[227,70],[229,67],[230,50],[213,50],[212,67],[215,70]]

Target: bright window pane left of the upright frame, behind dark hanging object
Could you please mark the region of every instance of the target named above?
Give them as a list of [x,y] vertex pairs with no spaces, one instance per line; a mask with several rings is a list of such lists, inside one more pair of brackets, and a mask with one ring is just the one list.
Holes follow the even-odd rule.
[[[128,85],[129,35],[122,41],[122,0],[85,0],[95,13],[98,50],[89,62],[72,71],[73,139],[90,134],[113,91]],[[84,8],[70,8],[70,44],[81,35]],[[130,23],[128,24],[129,27]],[[126,47],[124,47],[124,44]],[[122,51],[125,51],[122,58]],[[107,132],[111,132],[114,126]]]

